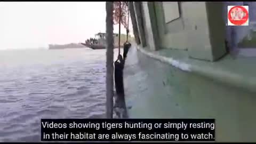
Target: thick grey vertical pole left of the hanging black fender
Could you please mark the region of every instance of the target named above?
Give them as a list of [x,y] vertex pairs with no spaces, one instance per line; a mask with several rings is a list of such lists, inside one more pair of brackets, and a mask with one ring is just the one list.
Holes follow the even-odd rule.
[[114,66],[113,66],[113,53],[114,53],[114,38],[113,38],[113,2],[106,2],[106,117],[113,118],[113,98],[114,98]]

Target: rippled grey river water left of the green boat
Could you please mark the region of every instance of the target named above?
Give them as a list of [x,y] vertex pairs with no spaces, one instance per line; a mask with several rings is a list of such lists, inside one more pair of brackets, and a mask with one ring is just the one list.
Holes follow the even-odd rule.
[[105,117],[105,81],[106,50],[0,51],[0,142],[40,141],[41,118]]

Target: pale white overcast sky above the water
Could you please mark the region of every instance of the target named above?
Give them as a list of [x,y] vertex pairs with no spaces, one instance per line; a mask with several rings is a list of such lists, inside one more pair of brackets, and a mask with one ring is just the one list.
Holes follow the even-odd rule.
[[105,33],[105,21],[105,2],[0,2],[0,49],[84,42]]

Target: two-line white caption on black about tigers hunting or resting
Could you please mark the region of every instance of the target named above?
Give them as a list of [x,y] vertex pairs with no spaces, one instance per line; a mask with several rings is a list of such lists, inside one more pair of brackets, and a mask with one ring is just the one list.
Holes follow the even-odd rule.
[[42,141],[215,141],[214,119],[42,119]]

